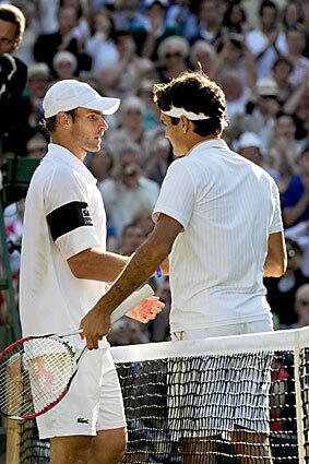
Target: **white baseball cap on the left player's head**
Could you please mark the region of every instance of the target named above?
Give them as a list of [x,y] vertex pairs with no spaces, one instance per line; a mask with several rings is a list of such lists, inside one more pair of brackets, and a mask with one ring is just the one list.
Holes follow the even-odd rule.
[[102,97],[88,84],[74,79],[54,84],[46,92],[43,100],[45,118],[51,118],[60,111],[70,111],[78,107],[96,109],[103,115],[112,115],[119,105],[119,98]]

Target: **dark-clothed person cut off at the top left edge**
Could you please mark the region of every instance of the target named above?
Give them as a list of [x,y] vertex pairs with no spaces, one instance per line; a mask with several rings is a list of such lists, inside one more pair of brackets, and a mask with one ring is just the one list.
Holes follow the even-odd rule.
[[[0,141],[2,153],[17,153],[24,123],[19,118],[19,99],[25,88],[27,67],[13,52],[21,45],[25,17],[11,4],[0,5]],[[19,136],[17,136],[19,134]]]

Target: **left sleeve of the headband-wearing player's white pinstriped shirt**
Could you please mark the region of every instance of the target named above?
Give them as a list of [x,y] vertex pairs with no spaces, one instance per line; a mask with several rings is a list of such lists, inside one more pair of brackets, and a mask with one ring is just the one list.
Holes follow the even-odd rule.
[[164,213],[186,229],[194,206],[195,187],[189,169],[181,162],[175,160],[167,169],[153,211],[153,221],[157,222],[159,214]]

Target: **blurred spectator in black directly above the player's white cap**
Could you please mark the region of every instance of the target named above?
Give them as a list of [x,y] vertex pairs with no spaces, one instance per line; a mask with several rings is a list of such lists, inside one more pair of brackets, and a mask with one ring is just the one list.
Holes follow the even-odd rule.
[[52,69],[52,60],[57,51],[68,50],[78,60],[78,72],[90,71],[92,67],[91,57],[84,51],[84,44],[81,38],[73,35],[73,29],[78,25],[78,13],[72,7],[63,7],[58,12],[59,28],[54,34],[39,35],[34,45],[34,58],[36,61],[46,62]]

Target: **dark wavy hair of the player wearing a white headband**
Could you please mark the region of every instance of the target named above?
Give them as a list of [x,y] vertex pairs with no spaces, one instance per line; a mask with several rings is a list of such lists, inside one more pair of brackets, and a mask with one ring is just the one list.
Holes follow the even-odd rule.
[[[194,114],[203,112],[209,119],[192,121],[201,136],[219,135],[224,128],[226,100],[223,90],[203,72],[186,71],[167,84],[155,84],[153,99],[158,108],[168,111],[173,106]],[[179,118],[171,117],[177,124]]]

